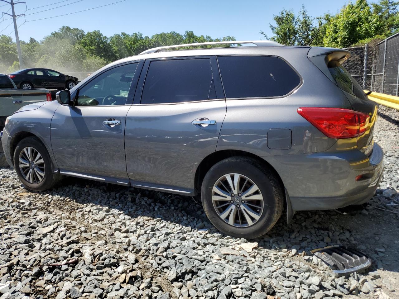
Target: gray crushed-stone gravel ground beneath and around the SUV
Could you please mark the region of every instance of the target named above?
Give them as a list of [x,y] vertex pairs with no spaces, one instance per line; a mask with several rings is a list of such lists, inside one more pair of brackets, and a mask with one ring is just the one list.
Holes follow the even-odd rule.
[[[220,234],[188,197],[73,178],[32,193],[0,169],[0,298],[399,298],[398,111],[380,107],[374,139],[369,205],[298,212],[255,240]],[[336,277],[309,252],[328,244],[373,265]]]

